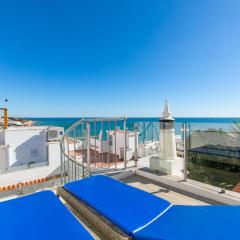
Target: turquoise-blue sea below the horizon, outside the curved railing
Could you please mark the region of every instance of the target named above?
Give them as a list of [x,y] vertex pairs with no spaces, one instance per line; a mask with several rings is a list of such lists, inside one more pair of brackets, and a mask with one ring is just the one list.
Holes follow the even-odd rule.
[[[47,126],[59,126],[63,127],[64,130],[67,130],[72,124],[80,120],[81,118],[53,118],[53,117],[44,117],[44,118],[31,118],[27,117],[34,121],[34,125],[47,125]],[[85,118],[86,119],[86,118]],[[129,129],[133,128],[133,123],[138,123],[140,128],[145,128],[146,126],[154,125],[156,128],[159,126],[159,118],[128,118],[127,127]],[[183,123],[187,124],[188,129],[192,130],[220,130],[220,131],[232,131],[233,129],[240,130],[240,117],[231,118],[231,117],[176,117],[175,118],[175,131],[176,134],[181,134]],[[158,128],[158,127],[157,127]]]

